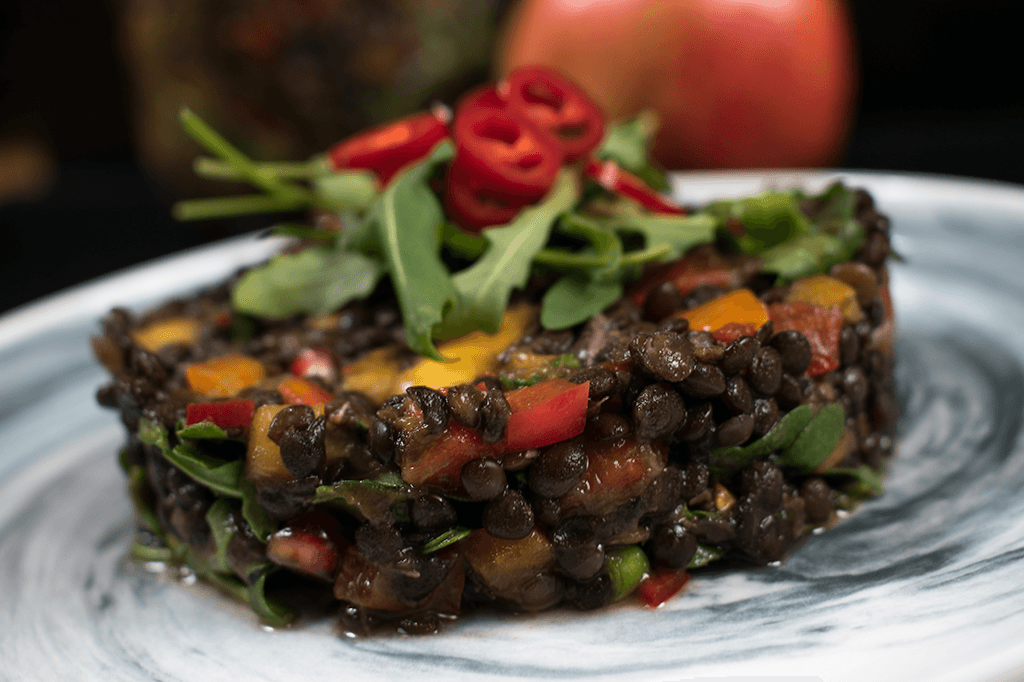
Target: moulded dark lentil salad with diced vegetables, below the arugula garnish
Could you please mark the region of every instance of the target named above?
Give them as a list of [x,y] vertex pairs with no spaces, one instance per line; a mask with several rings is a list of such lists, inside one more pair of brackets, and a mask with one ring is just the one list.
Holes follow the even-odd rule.
[[360,632],[638,585],[656,604],[711,561],[779,560],[892,452],[888,220],[863,191],[855,219],[859,253],[827,273],[777,285],[719,240],[569,329],[540,326],[535,278],[497,335],[438,346],[449,365],[409,349],[386,282],[284,321],[232,311],[231,283],[116,309],[93,344],[134,554],[270,624],[312,591]]

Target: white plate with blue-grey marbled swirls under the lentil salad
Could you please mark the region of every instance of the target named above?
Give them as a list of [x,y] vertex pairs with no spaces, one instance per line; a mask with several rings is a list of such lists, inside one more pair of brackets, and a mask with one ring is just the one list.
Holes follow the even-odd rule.
[[662,609],[470,617],[435,637],[267,632],[125,559],[131,510],[89,336],[273,250],[234,240],[0,319],[0,680],[1024,679],[1024,188],[914,175],[680,174],[699,203],[835,177],[891,217],[899,451],[885,496],[779,566]]

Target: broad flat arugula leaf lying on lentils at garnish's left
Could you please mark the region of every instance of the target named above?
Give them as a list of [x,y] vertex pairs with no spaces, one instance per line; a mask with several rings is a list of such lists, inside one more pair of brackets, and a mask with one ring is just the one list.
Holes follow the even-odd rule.
[[231,292],[231,303],[240,312],[279,319],[327,314],[369,295],[382,273],[380,264],[361,253],[312,247],[247,271]]

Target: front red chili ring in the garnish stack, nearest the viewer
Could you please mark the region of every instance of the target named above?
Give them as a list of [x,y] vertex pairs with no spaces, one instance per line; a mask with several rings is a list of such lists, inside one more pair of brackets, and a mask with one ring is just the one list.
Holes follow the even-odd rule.
[[507,109],[460,102],[453,124],[452,167],[474,189],[511,205],[537,202],[555,182],[562,157],[556,142]]

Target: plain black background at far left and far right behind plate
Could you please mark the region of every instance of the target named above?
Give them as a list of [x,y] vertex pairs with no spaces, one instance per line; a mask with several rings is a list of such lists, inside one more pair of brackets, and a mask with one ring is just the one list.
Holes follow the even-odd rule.
[[[0,198],[0,312],[230,231],[175,223],[136,162],[106,3],[0,6],[0,134],[28,131],[52,153],[30,164],[48,182]],[[851,8],[861,89],[841,166],[1024,183],[1024,59],[1010,0]]]

